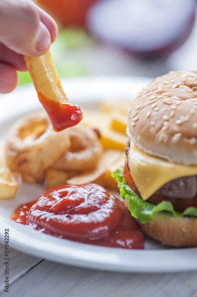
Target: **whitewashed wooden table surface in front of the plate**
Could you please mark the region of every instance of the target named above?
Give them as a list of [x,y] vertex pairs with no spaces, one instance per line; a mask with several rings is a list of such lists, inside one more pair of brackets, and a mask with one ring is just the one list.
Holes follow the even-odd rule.
[[9,250],[9,293],[4,292],[0,244],[0,297],[196,297],[197,271],[120,273],[67,266]]

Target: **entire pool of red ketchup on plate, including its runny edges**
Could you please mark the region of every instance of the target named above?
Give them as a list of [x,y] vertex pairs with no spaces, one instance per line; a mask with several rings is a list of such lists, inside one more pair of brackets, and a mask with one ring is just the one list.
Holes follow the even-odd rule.
[[97,184],[54,187],[18,206],[11,218],[72,241],[144,249],[144,234],[128,208]]

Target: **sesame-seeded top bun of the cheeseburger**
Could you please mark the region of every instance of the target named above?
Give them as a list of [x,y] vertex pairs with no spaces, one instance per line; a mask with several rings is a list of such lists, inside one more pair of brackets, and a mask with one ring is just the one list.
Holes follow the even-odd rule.
[[197,72],[170,71],[144,87],[130,105],[127,134],[151,155],[197,165]]

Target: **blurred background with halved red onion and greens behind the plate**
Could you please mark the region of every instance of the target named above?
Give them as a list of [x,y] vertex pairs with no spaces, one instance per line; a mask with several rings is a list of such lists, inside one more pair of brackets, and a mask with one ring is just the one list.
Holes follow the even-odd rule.
[[[54,17],[60,77],[197,69],[196,0],[36,0]],[[20,84],[30,82],[19,73]]]

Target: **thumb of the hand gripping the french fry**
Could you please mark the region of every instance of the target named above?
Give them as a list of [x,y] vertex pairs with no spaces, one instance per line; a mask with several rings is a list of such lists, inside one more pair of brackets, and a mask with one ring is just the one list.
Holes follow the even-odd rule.
[[5,46],[27,56],[41,56],[49,50],[51,37],[35,4],[1,0],[0,11],[0,41]]

